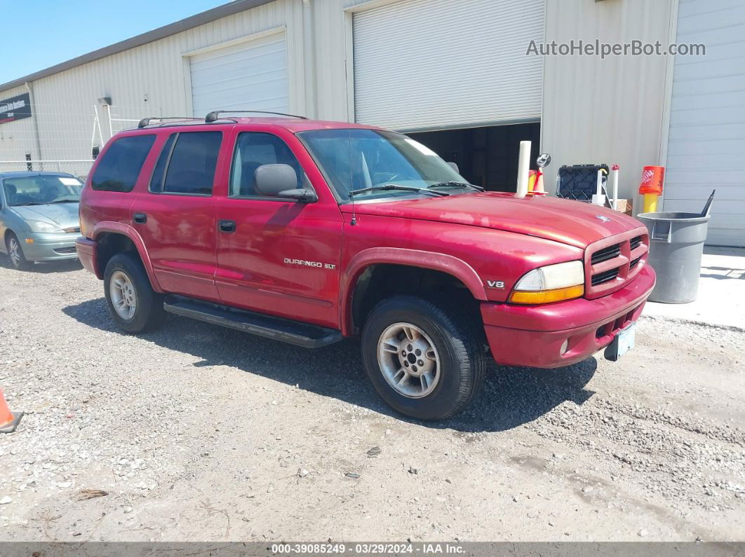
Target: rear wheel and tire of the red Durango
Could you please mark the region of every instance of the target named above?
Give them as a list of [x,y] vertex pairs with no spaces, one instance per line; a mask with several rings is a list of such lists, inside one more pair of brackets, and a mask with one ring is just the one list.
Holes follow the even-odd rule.
[[125,332],[150,331],[163,322],[163,297],[132,254],[116,254],[106,265],[104,294],[113,320]]

